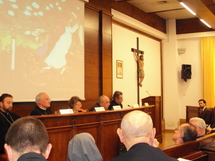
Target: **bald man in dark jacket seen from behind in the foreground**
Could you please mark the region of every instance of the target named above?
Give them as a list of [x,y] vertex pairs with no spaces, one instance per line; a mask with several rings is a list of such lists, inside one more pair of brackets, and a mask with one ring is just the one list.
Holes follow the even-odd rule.
[[142,111],[135,110],[126,114],[122,119],[121,128],[117,129],[117,134],[127,152],[111,161],[176,161],[154,147],[155,128],[152,119]]

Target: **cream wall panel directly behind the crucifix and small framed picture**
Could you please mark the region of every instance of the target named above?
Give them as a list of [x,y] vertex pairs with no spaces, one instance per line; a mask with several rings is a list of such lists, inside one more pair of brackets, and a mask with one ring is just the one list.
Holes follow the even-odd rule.
[[[137,66],[131,48],[144,51],[145,78],[140,87],[140,99],[150,95],[161,95],[160,42],[113,24],[113,91],[123,92],[123,106],[136,104],[137,101]],[[123,36],[122,36],[123,35]],[[123,61],[123,79],[116,78],[116,60]],[[141,104],[141,101],[140,101]]]

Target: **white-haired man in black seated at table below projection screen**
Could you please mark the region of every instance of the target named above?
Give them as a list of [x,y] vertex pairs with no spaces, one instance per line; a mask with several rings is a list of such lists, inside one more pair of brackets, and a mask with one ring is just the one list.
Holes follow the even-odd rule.
[[52,114],[50,110],[51,100],[49,96],[42,92],[39,93],[35,98],[36,106],[33,111],[31,111],[30,115],[48,115]]

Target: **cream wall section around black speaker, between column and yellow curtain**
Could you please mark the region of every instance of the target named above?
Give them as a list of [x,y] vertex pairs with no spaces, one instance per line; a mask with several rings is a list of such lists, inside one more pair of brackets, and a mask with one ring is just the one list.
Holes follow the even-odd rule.
[[[192,68],[191,79],[185,82],[179,79],[178,94],[180,98],[179,117],[185,118],[186,105],[196,105],[197,101],[202,98],[202,80],[201,80],[201,55],[200,55],[200,38],[182,39],[177,41],[178,48],[185,48],[184,54],[178,54],[178,64],[190,64]],[[179,73],[179,77],[181,73]]]

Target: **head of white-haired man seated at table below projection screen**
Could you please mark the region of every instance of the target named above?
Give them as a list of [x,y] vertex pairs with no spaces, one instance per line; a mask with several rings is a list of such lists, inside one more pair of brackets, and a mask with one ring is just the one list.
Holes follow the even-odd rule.
[[40,107],[43,110],[46,110],[47,108],[50,107],[51,100],[46,93],[42,92],[35,97],[35,102],[38,107]]

